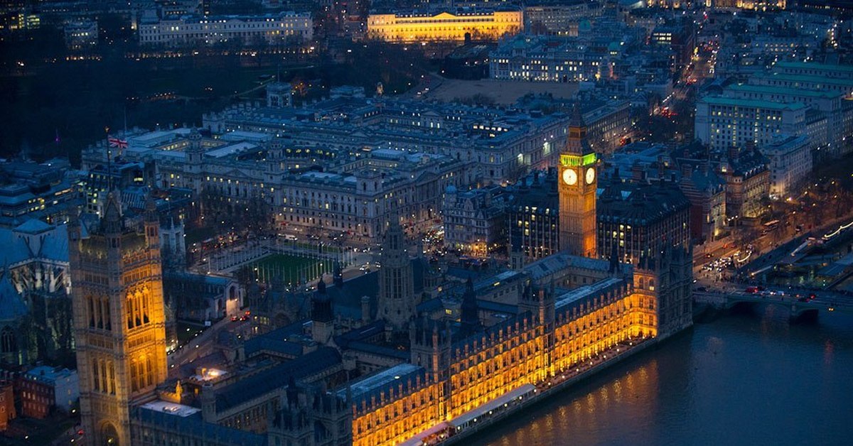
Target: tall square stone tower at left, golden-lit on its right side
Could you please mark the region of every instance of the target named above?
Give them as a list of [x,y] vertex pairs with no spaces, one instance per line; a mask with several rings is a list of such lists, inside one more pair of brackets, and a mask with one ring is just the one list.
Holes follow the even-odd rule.
[[129,404],[166,377],[160,218],[148,201],[143,232],[125,228],[116,193],[98,227],[68,225],[80,414],[92,444],[131,444]]

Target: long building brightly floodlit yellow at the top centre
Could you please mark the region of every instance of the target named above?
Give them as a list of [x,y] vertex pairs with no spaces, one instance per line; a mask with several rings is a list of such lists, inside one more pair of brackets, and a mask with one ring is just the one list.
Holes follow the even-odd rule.
[[368,15],[368,38],[390,42],[496,40],[521,31],[520,10],[458,10]]

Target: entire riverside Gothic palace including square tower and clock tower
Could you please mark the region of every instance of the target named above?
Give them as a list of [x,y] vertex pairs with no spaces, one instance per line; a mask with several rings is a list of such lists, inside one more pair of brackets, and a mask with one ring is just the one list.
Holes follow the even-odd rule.
[[[280,293],[285,305],[301,302],[305,317],[232,342],[227,361],[199,361],[183,379],[172,372],[187,365],[167,365],[160,218],[152,202],[132,225],[109,194],[99,221],[68,224],[87,441],[421,443],[422,432],[508,392],[688,327],[687,211],[673,211],[647,243],[619,250],[616,224],[632,223],[611,219],[604,229],[597,217],[599,162],[582,119],[572,119],[557,172],[560,252],[516,258],[512,269],[462,286],[421,253],[410,258],[392,220],[378,272],[344,281],[338,269],[314,292]],[[443,304],[448,290],[461,301],[455,308]]]

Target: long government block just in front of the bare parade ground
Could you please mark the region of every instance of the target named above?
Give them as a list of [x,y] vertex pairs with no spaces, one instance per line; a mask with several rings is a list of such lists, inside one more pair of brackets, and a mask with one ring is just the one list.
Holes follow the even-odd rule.
[[[281,137],[289,146],[287,158],[298,159],[293,164],[301,166],[329,152],[355,154],[365,148],[442,154],[473,163],[467,169],[472,181],[462,184],[467,185],[514,181],[554,165],[555,148],[566,142],[568,118],[566,113],[459,103],[341,97],[303,107],[229,107],[206,114],[202,122],[215,135],[239,131]],[[615,107],[600,119],[602,125],[616,125],[622,118],[622,109]]]

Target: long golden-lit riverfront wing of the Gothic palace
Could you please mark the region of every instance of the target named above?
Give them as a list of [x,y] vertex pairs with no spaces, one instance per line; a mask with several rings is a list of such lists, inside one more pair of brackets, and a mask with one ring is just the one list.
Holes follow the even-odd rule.
[[[560,286],[569,277],[562,275]],[[639,277],[613,275],[560,293],[528,283],[518,316],[463,339],[443,322],[421,321],[411,330],[411,363],[351,386],[352,443],[392,445],[421,437],[620,342],[656,337],[655,293],[646,281],[645,289],[636,289],[640,283]]]

